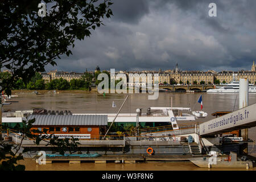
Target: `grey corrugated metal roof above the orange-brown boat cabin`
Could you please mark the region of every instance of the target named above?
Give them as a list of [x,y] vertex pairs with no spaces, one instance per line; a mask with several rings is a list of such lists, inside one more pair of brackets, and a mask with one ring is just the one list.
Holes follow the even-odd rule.
[[108,115],[30,115],[32,125],[108,125]]

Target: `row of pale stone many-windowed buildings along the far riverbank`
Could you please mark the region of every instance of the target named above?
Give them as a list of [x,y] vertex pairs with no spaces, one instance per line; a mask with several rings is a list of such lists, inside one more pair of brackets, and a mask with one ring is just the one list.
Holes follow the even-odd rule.
[[[133,73],[134,78],[133,82],[137,79],[139,82],[147,82],[148,81],[148,73],[152,74],[152,83],[154,83],[155,78],[158,79],[159,84],[214,84],[215,80],[219,80],[220,83],[230,82],[233,80],[233,75],[236,75],[236,78],[239,80],[240,78],[247,78],[250,83],[255,84],[256,82],[256,65],[254,64],[251,66],[250,71],[221,71],[216,72],[209,70],[207,72],[202,71],[181,71],[181,69],[176,64],[174,69],[169,69],[166,71],[116,71],[115,72],[115,79],[118,80],[122,77],[121,73],[124,73],[127,77],[127,82],[129,83],[129,74]],[[100,68],[95,69],[96,71],[100,71]],[[142,74],[145,74],[144,76]],[[154,77],[154,74],[158,74],[158,77]],[[42,73],[43,80],[45,82],[49,82],[56,78],[63,78],[67,81],[71,81],[72,79],[79,79],[84,75],[84,73],[75,73],[75,72],[58,72],[50,71],[48,73]],[[146,77],[145,77],[146,76]],[[112,76],[111,76],[112,77]],[[143,85],[143,84],[142,84]]]

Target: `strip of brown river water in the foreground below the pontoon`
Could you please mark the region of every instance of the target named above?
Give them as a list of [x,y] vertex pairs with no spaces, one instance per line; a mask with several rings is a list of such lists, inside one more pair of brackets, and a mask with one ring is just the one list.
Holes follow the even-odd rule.
[[52,163],[39,165],[34,160],[20,160],[27,171],[256,171],[256,167],[246,168],[200,168],[192,163],[137,163],[137,164],[95,164],[95,163]]

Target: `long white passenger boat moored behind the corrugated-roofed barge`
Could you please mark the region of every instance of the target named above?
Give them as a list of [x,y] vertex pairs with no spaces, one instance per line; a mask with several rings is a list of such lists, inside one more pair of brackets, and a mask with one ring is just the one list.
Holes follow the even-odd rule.
[[[31,115],[32,113],[32,110],[3,113],[2,121],[3,123],[9,123],[11,117],[19,117],[19,121],[15,120],[13,122],[22,122],[24,117]],[[108,122],[113,122],[116,113],[88,113],[72,115],[108,115]],[[196,117],[195,115],[192,115],[190,107],[148,107],[146,113],[142,113],[142,110],[139,113],[139,123],[141,123],[143,127],[172,125],[172,129],[177,130],[179,129],[177,121],[195,121],[195,119]],[[117,125],[126,125],[126,123],[135,124],[136,122],[137,113],[120,113],[115,119],[115,123],[117,123]]]

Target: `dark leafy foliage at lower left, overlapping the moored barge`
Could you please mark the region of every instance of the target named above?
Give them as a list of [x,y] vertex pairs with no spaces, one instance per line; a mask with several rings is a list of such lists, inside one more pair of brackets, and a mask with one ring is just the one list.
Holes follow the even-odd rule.
[[[20,131],[22,135],[20,135],[19,137],[20,144],[16,144],[15,146],[7,143],[0,144],[0,171],[23,171],[25,169],[25,166],[17,164],[18,160],[23,160],[22,153],[28,151],[27,148],[22,149],[21,147],[21,143],[25,139],[33,139],[35,141],[35,144],[38,145],[43,140],[44,142],[47,142],[46,146],[55,146],[55,152],[59,152],[59,154],[61,155],[64,155],[66,151],[69,151],[69,153],[71,154],[72,150],[75,150],[75,148],[77,148],[77,144],[80,144],[79,142],[77,142],[77,138],[59,139],[54,134],[48,134],[47,129],[44,129],[43,131],[32,130],[32,123],[34,122],[35,119],[30,119],[28,121],[22,121],[22,126],[16,125],[13,128],[10,128],[6,125],[3,126],[3,130],[11,129],[15,131]],[[20,150],[22,152],[20,152]]]

